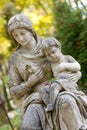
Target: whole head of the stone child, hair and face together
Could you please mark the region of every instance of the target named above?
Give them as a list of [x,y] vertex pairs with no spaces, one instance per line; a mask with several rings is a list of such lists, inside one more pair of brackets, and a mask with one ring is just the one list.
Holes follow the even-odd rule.
[[50,62],[58,62],[61,52],[61,43],[55,38],[46,38],[44,40],[43,52]]

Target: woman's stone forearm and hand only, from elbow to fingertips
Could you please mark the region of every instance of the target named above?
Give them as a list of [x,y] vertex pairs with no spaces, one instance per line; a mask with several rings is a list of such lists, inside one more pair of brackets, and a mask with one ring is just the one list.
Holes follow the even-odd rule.
[[13,98],[20,98],[32,90],[32,87],[42,79],[42,72],[38,70],[35,74],[31,75],[26,82],[10,88],[10,94]]

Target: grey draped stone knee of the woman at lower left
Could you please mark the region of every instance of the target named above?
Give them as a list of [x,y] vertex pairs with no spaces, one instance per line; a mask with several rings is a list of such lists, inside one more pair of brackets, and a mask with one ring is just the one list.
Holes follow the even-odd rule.
[[34,104],[30,105],[22,118],[21,130],[41,130],[40,118]]

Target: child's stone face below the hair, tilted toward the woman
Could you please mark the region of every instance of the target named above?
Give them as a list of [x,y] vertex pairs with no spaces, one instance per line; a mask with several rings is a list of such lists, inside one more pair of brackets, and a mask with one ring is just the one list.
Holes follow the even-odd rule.
[[59,61],[60,50],[56,46],[51,46],[51,47],[46,48],[44,50],[44,53],[50,62],[58,62]]

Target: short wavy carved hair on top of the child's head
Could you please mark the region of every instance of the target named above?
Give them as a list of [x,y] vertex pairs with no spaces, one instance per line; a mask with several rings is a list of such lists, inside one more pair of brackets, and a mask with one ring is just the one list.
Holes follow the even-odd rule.
[[49,48],[51,46],[56,46],[57,48],[61,49],[61,43],[54,37],[45,38],[43,46],[43,49]]

